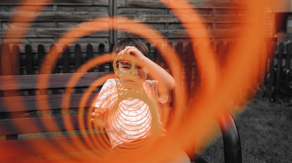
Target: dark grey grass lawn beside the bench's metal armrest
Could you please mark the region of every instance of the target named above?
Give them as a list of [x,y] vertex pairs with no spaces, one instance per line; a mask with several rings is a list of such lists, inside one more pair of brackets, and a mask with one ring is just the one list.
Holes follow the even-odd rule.
[[[292,162],[292,107],[254,99],[238,116],[242,162]],[[208,162],[224,162],[220,137],[202,152]]]

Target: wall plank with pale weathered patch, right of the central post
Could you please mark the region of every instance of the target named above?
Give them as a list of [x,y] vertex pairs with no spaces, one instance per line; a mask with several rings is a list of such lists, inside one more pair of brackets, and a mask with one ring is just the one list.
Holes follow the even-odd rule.
[[[144,23],[236,23],[246,22],[243,20],[243,16],[233,15],[200,15],[200,20],[194,19],[189,15],[181,15],[181,19],[178,19],[173,15],[120,15],[127,17],[127,20],[144,22]],[[119,21],[124,23],[123,21]]]

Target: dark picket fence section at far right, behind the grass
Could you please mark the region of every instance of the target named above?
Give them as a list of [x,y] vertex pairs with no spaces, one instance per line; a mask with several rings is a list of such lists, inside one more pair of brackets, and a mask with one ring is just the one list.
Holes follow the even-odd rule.
[[291,48],[292,42],[278,43],[267,41],[266,73],[263,86],[263,96],[270,101],[291,99],[292,96],[292,68]]

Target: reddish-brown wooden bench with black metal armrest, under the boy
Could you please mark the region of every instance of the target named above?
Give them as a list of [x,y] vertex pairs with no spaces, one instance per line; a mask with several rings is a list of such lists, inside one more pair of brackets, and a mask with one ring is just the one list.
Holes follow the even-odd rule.
[[[103,77],[113,72],[98,72],[98,73],[84,73],[83,77],[75,85],[75,88],[84,88],[92,84],[96,79]],[[73,74],[50,74],[48,82],[48,89],[60,89],[65,88],[68,80]],[[83,115],[60,115],[60,116],[44,116],[44,117],[14,117],[15,115],[20,116],[20,113],[28,111],[48,111],[58,109],[73,109],[79,107],[80,99],[83,93],[74,93],[71,95],[69,101],[69,108],[64,108],[61,103],[63,94],[56,95],[32,95],[32,96],[12,96],[5,97],[7,93],[13,93],[12,91],[24,91],[24,90],[38,90],[37,79],[39,75],[18,75],[18,76],[1,76],[0,90],[3,91],[4,97],[1,97],[1,114],[7,114],[9,119],[0,120],[0,134],[6,135],[6,140],[1,141],[1,162],[17,162],[25,160],[51,160],[57,158],[66,159],[68,155],[66,153],[80,152],[93,152],[95,150],[102,150],[100,148],[84,146],[82,148],[76,148],[73,145],[70,148],[55,148],[58,147],[58,143],[65,141],[81,141],[86,143],[82,135],[74,136],[59,136],[59,137],[46,137],[36,139],[25,139],[17,140],[19,134],[30,134],[30,133],[43,133],[43,132],[55,132],[55,131],[68,131],[68,130],[80,130],[80,129],[94,129],[93,125],[87,125],[89,121],[90,113]],[[17,83],[17,85],[13,84]],[[102,86],[102,85],[100,85]],[[42,90],[39,90],[42,91]],[[14,92],[15,93],[15,92]],[[91,93],[86,103],[86,107],[90,107],[92,100],[96,97],[97,92]],[[49,107],[39,107],[41,103],[48,102]],[[167,117],[171,113],[171,94],[169,95],[168,102],[163,104],[162,110],[167,110],[161,117]],[[18,113],[18,114],[15,114]],[[230,114],[229,114],[230,115]],[[85,128],[80,128],[78,119],[82,118]],[[72,128],[66,128],[64,121],[70,121]],[[241,162],[241,148],[239,134],[237,131],[236,124],[232,116],[225,116],[220,119],[220,128],[223,133],[224,140],[224,153],[225,162]],[[52,125],[55,122],[55,125]],[[224,122],[224,123],[223,123]],[[228,129],[226,122],[231,122],[232,128]],[[95,130],[95,129],[94,129]],[[104,131],[96,131],[95,135]],[[91,137],[90,134],[88,134]],[[46,147],[44,149],[44,147]],[[234,150],[237,149],[237,152]],[[75,155],[76,156],[76,155]],[[68,158],[69,159],[69,158]],[[192,160],[200,162],[202,158],[193,157]],[[204,162],[204,160],[203,160]]]

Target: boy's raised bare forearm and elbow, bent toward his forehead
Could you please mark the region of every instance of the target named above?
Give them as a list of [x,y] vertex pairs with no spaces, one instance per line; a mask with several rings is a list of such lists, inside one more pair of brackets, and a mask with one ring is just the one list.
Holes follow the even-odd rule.
[[143,66],[149,70],[149,74],[153,77],[153,73],[156,73],[160,79],[158,79],[157,90],[159,95],[163,95],[171,91],[175,86],[175,79],[166,71],[149,58],[145,57],[142,60]]

